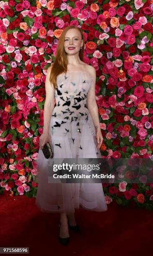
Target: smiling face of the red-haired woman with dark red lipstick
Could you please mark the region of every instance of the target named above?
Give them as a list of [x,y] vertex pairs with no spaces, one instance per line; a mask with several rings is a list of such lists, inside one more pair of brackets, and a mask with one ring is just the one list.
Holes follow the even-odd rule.
[[[69,29],[66,32],[64,39],[64,50],[67,54],[76,54],[80,51],[80,47],[83,46],[83,39],[81,39],[81,34],[75,28]],[[74,47],[69,49],[69,47]]]

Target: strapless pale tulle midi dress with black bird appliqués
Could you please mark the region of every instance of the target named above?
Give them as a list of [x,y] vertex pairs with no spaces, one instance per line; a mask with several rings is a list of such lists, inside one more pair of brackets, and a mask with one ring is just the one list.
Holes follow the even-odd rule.
[[[83,71],[58,75],[56,107],[49,129],[54,159],[101,158],[97,150],[96,130],[86,105],[87,93],[93,82],[91,75]],[[69,214],[80,205],[87,210],[107,210],[101,183],[49,183],[48,165],[54,159],[46,159],[39,149],[36,205],[41,211]]]

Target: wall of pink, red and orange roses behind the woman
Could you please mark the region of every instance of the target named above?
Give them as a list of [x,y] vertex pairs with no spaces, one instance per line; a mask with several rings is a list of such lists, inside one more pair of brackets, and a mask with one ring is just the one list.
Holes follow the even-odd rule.
[[[153,160],[152,24],[153,0],[0,1],[1,194],[36,197],[46,72],[70,25],[82,29],[97,74],[102,157]],[[123,176],[103,184],[107,203],[153,209],[153,184]]]

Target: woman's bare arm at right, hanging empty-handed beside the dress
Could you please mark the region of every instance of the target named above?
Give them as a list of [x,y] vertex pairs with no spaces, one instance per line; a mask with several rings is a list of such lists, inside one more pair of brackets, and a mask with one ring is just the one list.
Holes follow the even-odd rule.
[[97,102],[95,98],[96,97],[95,95],[96,71],[92,66],[90,70],[91,70],[90,74],[93,77],[93,81],[89,89],[89,92],[87,93],[87,108],[90,112],[90,115],[92,117],[92,120],[96,128],[96,137],[97,137],[97,143],[98,143],[97,149],[99,149],[100,146],[102,145],[103,136],[100,129],[98,107],[97,107]]

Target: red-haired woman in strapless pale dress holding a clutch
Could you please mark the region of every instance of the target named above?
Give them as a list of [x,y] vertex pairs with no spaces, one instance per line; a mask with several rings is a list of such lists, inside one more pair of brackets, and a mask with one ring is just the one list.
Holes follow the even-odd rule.
[[[54,158],[101,158],[103,137],[95,100],[95,69],[83,62],[84,38],[75,26],[64,29],[59,38],[54,64],[46,74],[43,134],[38,152],[36,204],[42,211],[60,212],[59,240],[69,242],[69,228],[79,231],[74,209],[105,211],[102,184],[51,184],[41,148],[49,141]],[[54,108],[54,97],[56,107]]]

